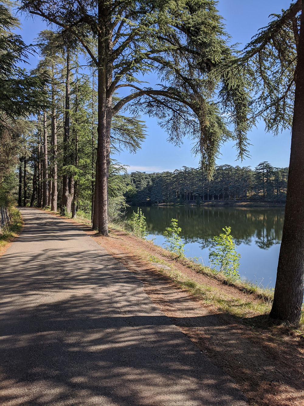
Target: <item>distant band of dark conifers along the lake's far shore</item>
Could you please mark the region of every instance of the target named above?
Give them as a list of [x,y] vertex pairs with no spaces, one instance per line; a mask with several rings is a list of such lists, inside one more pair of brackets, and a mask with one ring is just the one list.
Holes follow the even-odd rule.
[[268,201],[286,200],[288,168],[276,168],[261,162],[249,166],[216,167],[212,180],[198,168],[183,166],[173,172],[132,172],[131,188],[125,194],[131,205],[161,203],[185,204],[206,201]]

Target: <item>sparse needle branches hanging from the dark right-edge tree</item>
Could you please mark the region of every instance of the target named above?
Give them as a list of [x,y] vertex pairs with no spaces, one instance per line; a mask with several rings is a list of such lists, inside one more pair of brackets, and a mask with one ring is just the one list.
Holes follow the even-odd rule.
[[261,117],[274,134],[292,125],[301,8],[302,1],[297,1],[270,15],[272,21],[246,45],[239,60],[251,82],[253,118]]

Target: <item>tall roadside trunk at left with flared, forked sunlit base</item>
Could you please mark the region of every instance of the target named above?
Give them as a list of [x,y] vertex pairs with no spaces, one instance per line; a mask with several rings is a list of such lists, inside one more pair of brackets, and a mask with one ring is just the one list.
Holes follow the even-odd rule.
[[[69,165],[70,162],[70,49],[66,50],[66,83],[65,83],[65,113],[64,113],[64,136],[63,136],[63,150],[64,150],[64,165]],[[73,179],[71,173],[66,170],[62,175],[62,199],[60,212],[63,213],[63,208],[66,208],[68,213],[71,213],[71,203],[73,199]]]

